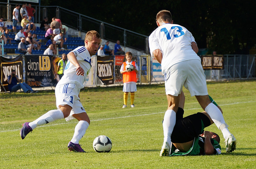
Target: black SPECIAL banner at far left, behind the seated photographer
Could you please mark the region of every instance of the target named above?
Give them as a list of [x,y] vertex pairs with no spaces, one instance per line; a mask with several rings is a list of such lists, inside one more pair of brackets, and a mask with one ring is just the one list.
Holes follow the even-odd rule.
[[[22,56],[17,56],[13,59],[7,59],[5,57],[0,57],[0,75],[1,75],[1,82],[6,91],[8,89],[8,76],[11,75],[11,71],[15,70],[18,79],[20,79],[21,83],[23,82],[23,64],[22,64]],[[4,91],[1,85],[1,91]]]

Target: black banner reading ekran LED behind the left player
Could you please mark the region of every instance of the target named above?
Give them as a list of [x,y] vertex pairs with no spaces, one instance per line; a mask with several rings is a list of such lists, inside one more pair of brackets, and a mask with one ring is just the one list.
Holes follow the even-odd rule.
[[25,80],[31,87],[56,86],[57,57],[51,55],[25,55]]

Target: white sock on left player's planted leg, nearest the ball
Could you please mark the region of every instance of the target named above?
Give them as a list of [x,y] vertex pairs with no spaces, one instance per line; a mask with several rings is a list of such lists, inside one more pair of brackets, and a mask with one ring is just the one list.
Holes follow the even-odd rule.
[[89,127],[89,123],[85,120],[80,120],[78,124],[75,126],[75,133],[73,138],[71,139],[71,142],[78,144],[79,141],[82,139],[82,137],[85,134],[85,131]]

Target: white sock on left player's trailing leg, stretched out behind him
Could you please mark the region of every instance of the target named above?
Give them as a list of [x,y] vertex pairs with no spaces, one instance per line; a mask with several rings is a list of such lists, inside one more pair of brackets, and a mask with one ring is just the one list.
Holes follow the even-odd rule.
[[31,126],[31,128],[34,130],[39,125],[47,124],[63,118],[64,115],[61,110],[50,110],[49,112],[45,113],[43,116],[39,117],[33,122],[28,123],[28,125]]

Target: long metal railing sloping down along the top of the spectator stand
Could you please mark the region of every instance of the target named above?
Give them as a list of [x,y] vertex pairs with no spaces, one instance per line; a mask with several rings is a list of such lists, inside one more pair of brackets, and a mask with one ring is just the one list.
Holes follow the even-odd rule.
[[[0,14],[5,20],[11,21],[12,11],[15,8],[15,4],[9,4],[10,7],[8,15],[7,3],[0,2]],[[40,6],[40,9],[39,6],[36,5],[33,5],[32,7],[36,10],[36,13],[34,14],[36,23],[41,23],[44,17],[48,17],[49,21],[51,21],[51,18],[56,16],[57,18],[60,18],[62,23],[68,27],[77,29],[81,32],[96,30],[101,34],[102,39],[112,42],[120,40],[120,44],[124,45],[124,47],[131,47],[133,49],[149,53],[148,36],[146,35],[114,26],[60,6]],[[21,21],[20,15],[19,20]]]

